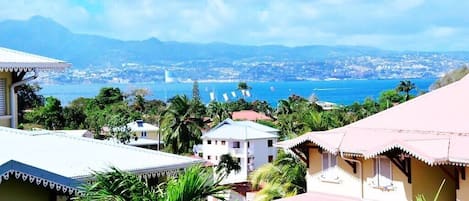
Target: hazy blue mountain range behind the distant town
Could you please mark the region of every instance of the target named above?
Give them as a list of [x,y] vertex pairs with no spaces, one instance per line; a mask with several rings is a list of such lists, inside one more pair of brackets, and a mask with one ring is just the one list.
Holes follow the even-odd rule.
[[168,64],[188,60],[324,60],[339,57],[392,54],[371,47],[241,46],[225,43],[163,42],[156,38],[122,41],[96,35],[75,34],[57,22],[35,16],[26,21],[0,22],[0,46],[54,57],[74,68],[118,66],[122,63]]

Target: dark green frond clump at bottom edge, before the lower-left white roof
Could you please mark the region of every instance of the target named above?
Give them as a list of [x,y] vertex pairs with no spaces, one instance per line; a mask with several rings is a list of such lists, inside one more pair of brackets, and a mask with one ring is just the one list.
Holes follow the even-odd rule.
[[111,168],[109,172],[94,172],[95,181],[82,186],[80,201],[150,201],[157,200],[156,189],[135,174]]

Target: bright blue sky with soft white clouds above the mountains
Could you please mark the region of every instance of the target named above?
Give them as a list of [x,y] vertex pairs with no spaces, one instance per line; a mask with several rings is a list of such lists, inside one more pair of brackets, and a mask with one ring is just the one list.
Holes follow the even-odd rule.
[[41,15],[121,40],[469,50],[467,0],[0,0],[0,21]]

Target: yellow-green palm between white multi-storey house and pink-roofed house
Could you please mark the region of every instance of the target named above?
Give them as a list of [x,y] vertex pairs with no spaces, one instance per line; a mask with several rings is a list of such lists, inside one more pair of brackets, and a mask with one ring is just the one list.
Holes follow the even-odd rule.
[[306,166],[291,154],[280,152],[273,163],[268,163],[250,175],[253,188],[262,189],[256,200],[272,200],[306,191]]

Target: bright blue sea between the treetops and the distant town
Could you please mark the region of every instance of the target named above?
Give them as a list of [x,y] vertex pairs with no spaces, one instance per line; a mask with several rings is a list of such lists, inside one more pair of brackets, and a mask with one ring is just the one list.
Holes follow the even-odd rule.
[[[417,86],[418,91],[428,91],[429,86],[435,82],[434,79],[411,79]],[[330,80],[330,81],[292,81],[292,82],[248,82],[252,88],[247,100],[266,100],[273,106],[281,99],[286,99],[292,94],[305,98],[314,94],[320,101],[334,102],[348,105],[354,102],[363,102],[367,97],[377,99],[384,90],[394,89],[399,84],[398,79],[389,80]],[[200,83],[199,91],[202,101],[210,101],[210,93],[213,92],[218,101],[234,101],[242,97],[237,88],[237,82],[230,83]],[[44,96],[58,98],[62,105],[68,105],[78,97],[95,97],[102,87],[118,87],[123,92],[133,89],[148,89],[149,95],[145,99],[168,100],[175,95],[185,94],[192,97],[192,83],[132,83],[132,84],[43,84],[39,92]],[[236,94],[233,97],[232,93]]]

